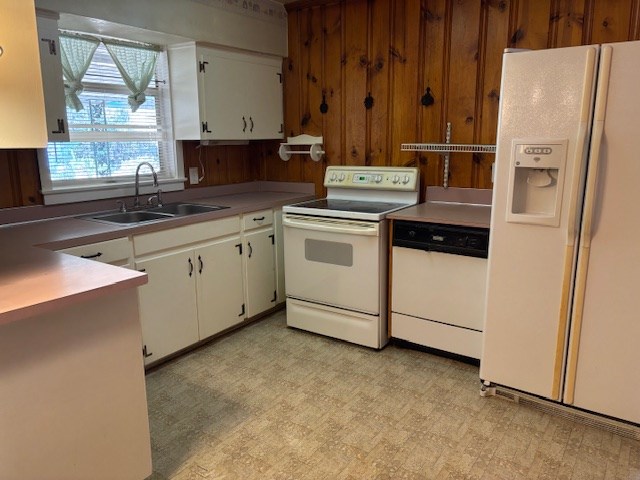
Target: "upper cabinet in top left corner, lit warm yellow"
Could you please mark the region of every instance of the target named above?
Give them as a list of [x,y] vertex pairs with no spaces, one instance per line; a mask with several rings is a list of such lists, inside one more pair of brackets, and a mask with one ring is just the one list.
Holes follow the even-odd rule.
[[33,0],[0,0],[0,148],[47,144]]

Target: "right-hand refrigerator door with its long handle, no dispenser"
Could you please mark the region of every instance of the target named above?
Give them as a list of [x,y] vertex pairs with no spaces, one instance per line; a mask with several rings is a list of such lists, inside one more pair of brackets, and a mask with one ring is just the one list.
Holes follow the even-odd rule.
[[602,58],[564,400],[640,423],[640,42]]

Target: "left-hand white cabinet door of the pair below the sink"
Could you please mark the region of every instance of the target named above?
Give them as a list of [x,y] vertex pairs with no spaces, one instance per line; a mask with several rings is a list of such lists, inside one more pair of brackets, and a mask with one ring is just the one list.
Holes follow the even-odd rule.
[[191,250],[136,261],[149,282],[138,289],[145,364],[198,341],[196,265]]

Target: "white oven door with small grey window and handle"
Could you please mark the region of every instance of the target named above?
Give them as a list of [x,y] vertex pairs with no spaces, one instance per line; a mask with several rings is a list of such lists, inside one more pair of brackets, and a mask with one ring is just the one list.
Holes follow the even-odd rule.
[[285,214],[287,297],[380,314],[386,222]]

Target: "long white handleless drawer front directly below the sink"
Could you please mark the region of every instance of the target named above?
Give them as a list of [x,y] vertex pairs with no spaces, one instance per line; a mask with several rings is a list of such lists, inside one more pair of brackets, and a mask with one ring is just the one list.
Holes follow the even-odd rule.
[[136,257],[147,253],[206,242],[240,232],[240,217],[194,223],[133,237]]

